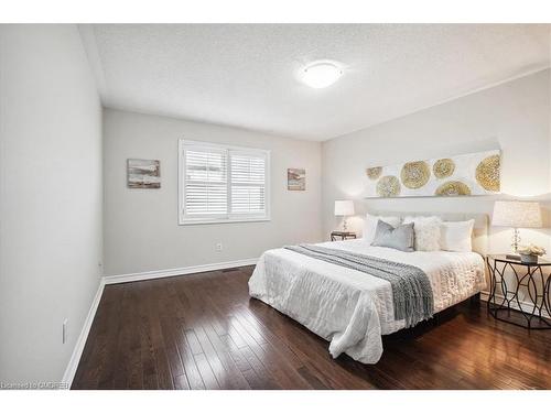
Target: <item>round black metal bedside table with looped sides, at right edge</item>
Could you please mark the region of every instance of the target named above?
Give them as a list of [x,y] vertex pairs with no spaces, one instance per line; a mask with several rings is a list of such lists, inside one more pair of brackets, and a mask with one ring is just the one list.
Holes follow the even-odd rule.
[[[529,264],[506,256],[487,256],[486,264],[490,275],[489,314],[496,319],[528,329],[550,329],[551,320],[544,318],[542,312],[551,314],[551,275],[543,274],[542,268],[551,269],[551,262],[540,259]],[[511,270],[509,281],[504,278],[507,269]],[[496,293],[498,285],[500,293]],[[521,286],[526,289],[522,302],[519,298]],[[511,308],[511,304],[515,307]],[[511,318],[511,309],[519,309],[517,313],[521,316]],[[507,317],[501,316],[504,311]]]

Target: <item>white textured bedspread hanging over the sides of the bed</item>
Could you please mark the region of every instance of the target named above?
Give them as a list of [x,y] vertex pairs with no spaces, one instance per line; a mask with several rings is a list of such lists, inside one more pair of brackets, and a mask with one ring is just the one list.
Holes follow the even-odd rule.
[[[361,239],[320,246],[420,268],[430,279],[435,313],[486,286],[484,260],[476,252],[402,252],[370,247]],[[333,357],[346,352],[376,363],[382,355],[381,335],[404,327],[403,320],[395,320],[388,281],[285,249],[260,257],[249,293],[331,341]]]

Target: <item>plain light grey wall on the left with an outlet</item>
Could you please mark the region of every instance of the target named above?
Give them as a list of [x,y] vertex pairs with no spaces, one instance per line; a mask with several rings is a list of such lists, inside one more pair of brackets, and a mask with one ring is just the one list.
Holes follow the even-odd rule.
[[101,107],[76,26],[0,25],[0,382],[61,381],[102,250]]

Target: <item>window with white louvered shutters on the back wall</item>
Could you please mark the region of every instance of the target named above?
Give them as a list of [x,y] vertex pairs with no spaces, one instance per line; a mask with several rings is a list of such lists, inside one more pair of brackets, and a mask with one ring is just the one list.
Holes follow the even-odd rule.
[[180,140],[180,224],[268,220],[270,152]]

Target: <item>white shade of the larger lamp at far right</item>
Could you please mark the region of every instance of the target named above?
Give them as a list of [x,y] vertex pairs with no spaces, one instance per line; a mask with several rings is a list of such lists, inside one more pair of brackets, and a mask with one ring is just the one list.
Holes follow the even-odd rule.
[[539,203],[521,200],[496,200],[491,225],[511,228],[541,228]]

